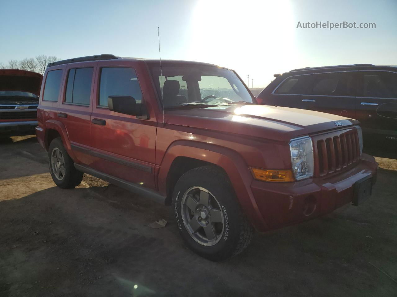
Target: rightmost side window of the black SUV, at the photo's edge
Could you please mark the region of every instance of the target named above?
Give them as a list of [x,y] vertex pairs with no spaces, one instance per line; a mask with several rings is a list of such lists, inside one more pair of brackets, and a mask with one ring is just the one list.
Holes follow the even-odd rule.
[[363,73],[363,97],[397,98],[397,73],[365,71]]

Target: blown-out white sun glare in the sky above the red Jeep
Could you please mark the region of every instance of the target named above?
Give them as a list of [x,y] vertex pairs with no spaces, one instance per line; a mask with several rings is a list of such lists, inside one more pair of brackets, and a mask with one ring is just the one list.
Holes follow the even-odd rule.
[[293,22],[289,0],[200,0],[191,21],[189,58],[233,68],[243,79],[263,76],[269,68],[281,71],[294,44]]

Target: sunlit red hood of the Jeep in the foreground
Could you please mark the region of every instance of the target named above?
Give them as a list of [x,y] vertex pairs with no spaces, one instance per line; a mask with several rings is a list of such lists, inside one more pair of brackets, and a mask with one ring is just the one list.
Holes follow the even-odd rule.
[[290,107],[231,105],[166,110],[166,123],[288,142],[294,137],[344,128],[359,122],[324,112]]

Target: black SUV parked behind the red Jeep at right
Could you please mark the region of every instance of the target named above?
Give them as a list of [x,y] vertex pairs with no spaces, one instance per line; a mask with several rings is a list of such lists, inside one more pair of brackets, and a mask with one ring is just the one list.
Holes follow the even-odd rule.
[[397,66],[306,67],[274,76],[257,97],[261,104],[355,118],[367,138],[397,144]]

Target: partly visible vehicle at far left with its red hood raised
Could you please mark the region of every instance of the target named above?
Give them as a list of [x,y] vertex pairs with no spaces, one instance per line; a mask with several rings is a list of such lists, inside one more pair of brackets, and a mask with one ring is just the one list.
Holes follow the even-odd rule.
[[0,69],[0,137],[35,134],[43,76],[19,69]]

